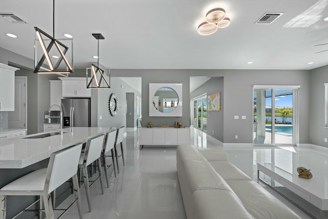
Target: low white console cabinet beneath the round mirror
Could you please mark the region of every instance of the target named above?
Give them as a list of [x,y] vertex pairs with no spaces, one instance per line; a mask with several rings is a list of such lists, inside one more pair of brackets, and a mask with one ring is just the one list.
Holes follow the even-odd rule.
[[140,129],[140,149],[145,145],[189,145],[190,128],[146,128]]

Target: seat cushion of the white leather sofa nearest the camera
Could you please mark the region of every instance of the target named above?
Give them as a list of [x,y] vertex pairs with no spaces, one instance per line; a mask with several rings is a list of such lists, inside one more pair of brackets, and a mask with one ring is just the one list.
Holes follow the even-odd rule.
[[300,219],[297,214],[258,183],[240,180],[227,180],[226,182],[238,195],[245,209],[254,218]]

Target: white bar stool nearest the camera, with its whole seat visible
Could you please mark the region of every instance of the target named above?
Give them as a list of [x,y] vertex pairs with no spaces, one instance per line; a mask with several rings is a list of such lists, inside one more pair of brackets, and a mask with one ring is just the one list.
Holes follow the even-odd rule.
[[6,218],[6,197],[8,195],[37,195],[43,201],[47,219],[54,219],[50,193],[64,184],[70,178],[73,181],[73,190],[76,197],[77,209],[82,217],[77,167],[81,154],[82,144],[72,146],[50,155],[48,168],[33,171],[0,189],[0,218]]

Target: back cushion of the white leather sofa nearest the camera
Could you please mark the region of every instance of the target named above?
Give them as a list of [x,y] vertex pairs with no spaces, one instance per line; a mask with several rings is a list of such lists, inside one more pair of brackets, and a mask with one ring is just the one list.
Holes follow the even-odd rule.
[[228,190],[197,190],[193,193],[193,202],[194,219],[253,218]]

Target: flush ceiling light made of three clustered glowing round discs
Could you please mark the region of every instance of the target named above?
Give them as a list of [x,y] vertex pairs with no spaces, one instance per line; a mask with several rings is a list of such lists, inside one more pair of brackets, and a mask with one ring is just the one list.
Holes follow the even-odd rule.
[[210,35],[217,31],[217,28],[225,28],[230,25],[230,18],[226,17],[226,10],[214,8],[206,13],[206,22],[198,26],[200,35]]

